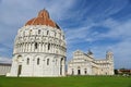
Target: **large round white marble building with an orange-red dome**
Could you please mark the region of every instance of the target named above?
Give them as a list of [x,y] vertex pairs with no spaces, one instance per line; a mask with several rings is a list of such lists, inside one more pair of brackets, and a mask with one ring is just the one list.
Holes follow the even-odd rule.
[[44,9],[19,29],[8,76],[64,76],[66,52],[64,34]]

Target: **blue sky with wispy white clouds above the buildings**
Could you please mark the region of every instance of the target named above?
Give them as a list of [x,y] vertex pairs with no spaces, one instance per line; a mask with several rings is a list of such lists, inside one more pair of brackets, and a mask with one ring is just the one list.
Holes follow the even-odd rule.
[[43,9],[66,34],[68,61],[78,49],[97,60],[111,50],[115,69],[131,69],[131,0],[0,0],[0,62],[11,62],[19,28]]

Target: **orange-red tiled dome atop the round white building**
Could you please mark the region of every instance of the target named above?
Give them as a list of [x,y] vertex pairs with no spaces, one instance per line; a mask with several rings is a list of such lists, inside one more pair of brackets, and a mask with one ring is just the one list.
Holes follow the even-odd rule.
[[29,20],[26,25],[47,25],[47,26],[51,26],[51,27],[56,27],[56,28],[60,28],[57,23],[55,23],[52,20],[50,20],[49,17],[49,13],[47,10],[41,10],[38,13],[38,16],[35,18]]

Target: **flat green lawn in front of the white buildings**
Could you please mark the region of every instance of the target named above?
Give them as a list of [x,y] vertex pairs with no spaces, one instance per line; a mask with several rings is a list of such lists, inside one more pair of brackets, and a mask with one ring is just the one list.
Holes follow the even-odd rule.
[[0,87],[131,87],[131,77],[68,76],[68,77],[3,77]]

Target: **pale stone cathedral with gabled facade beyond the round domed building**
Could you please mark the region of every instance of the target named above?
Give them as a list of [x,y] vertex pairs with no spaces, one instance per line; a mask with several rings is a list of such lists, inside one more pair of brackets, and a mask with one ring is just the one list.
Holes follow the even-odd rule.
[[68,63],[68,75],[114,75],[114,55],[108,51],[106,59],[95,60],[93,52],[76,50]]

